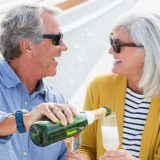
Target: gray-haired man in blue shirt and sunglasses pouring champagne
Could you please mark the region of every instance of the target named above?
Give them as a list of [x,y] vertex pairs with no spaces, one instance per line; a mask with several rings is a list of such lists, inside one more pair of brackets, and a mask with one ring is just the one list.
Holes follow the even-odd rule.
[[65,125],[65,115],[71,123],[76,114],[69,105],[58,105],[66,101],[43,80],[56,74],[55,58],[67,50],[57,14],[57,8],[21,5],[9,10],[1,21],[0,160],[66,159],[63,141],[38,147],[28,133],[31,124],[44,115]]

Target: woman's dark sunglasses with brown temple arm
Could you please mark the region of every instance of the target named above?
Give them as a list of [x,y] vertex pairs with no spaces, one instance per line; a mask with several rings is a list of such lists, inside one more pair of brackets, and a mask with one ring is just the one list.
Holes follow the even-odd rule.
[[142,45],[136,45],[135,43],[120,43],[115,38],[110,36],[110,44],[116,53],[120,53],[121,46],[123,47],[143,47]]

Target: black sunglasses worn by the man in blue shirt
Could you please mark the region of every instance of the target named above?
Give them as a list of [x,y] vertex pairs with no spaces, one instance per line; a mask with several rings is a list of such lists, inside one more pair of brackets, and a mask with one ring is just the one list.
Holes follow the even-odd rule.
[[63,34],[43,34],[42,37],[51,39],[55,46],[59,46],[62,42]]

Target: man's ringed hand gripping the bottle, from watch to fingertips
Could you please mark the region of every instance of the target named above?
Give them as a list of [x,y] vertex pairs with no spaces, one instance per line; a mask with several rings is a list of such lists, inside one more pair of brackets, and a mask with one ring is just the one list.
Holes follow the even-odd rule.
[[69,104],[41,103],[31,112],[23,115],[23,123],[26,130],[29,130],[34,122],[46,116],[53,122],[58,122],[58,120],[60,120],[62,125],[66,125],[67,121],[72,123],[73,115],[76,115],[76,109]]

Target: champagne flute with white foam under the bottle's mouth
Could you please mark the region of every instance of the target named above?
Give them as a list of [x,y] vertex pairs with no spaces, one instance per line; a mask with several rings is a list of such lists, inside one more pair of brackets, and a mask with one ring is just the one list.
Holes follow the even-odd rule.
[[103,147],[107,151],[116,150],[119,146],[119,135],[115,112],[101,118],[101,130]]

